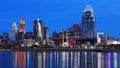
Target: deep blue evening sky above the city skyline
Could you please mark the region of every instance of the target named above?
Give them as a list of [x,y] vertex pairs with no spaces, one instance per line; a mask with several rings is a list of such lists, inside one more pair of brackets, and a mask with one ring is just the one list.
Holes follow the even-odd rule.
[[41,19],[49,33],[81,23],[86,5],[91,5],[96,16],[96,30],[120,38],[120,0],[1,0],[0,34],[11,32],[15,21],[19,28],[24,17],[27,31],[33,31],[33,21]]

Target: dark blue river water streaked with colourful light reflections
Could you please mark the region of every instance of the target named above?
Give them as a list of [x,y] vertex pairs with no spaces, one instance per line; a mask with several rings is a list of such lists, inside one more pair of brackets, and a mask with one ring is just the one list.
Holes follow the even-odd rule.
[[120,68],[120,53],[0,52],[0,68]]

